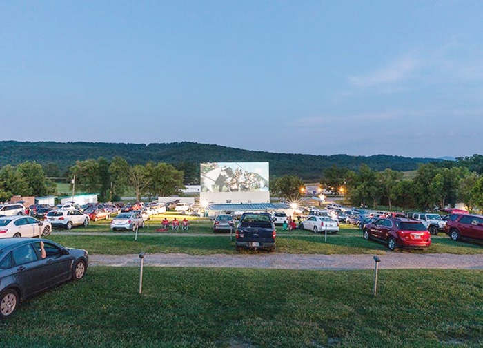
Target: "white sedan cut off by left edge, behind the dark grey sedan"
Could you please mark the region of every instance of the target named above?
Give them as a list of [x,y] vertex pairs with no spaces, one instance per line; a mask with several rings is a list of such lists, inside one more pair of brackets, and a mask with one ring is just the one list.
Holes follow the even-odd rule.
[[8,237],[47,237],[52,225],[32,216],[14,215],[0,218],[0,238]]

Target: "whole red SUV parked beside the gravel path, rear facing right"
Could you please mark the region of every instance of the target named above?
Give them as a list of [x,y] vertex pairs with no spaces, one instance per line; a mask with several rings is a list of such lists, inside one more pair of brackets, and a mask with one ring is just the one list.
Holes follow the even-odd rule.
[[396,248],[428,249],[431,236],[422,222],[407,218],[380,218],[364,226],[365,240],[380,240],[390,250]]

